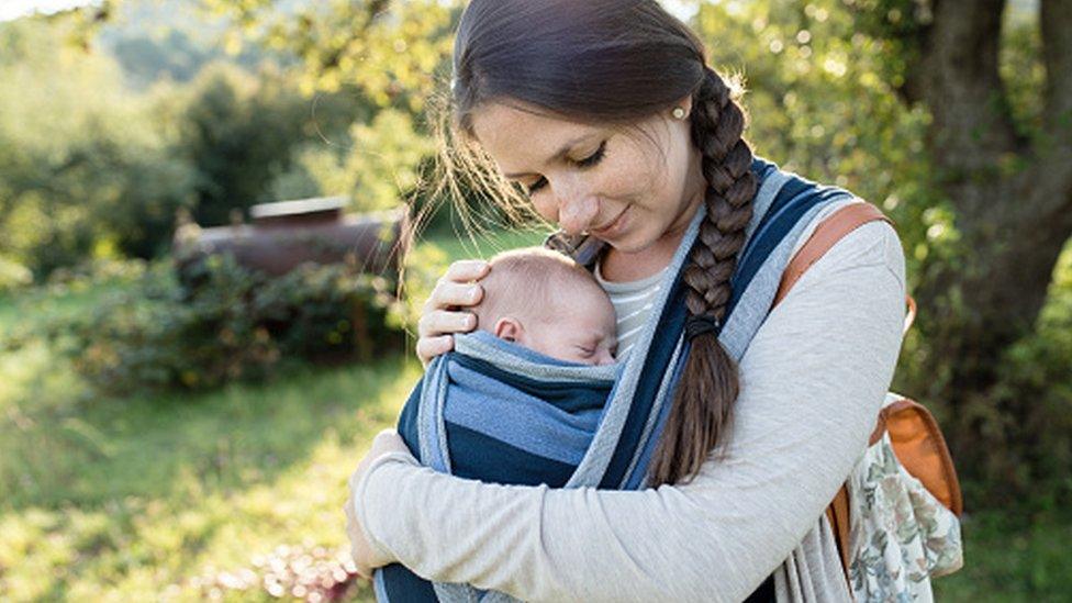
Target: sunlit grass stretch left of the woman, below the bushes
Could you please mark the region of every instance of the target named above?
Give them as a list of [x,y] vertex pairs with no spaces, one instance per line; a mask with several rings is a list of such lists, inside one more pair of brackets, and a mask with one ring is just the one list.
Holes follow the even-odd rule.
[[[36,391],[66,387],[52,375]],[[212,568],[281,544],[343,546],[346,478],[418,376],[390,358],[189,398],[9,398],[0,599],[196,600],[190,579]]]

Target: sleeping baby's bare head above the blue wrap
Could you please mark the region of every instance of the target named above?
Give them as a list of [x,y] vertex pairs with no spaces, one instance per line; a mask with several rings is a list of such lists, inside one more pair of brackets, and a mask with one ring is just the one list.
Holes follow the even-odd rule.
[[584,365],[614,364],[614,306],[572,259],[541,247],[491,258],[472,311],[477,326],[546,356]]

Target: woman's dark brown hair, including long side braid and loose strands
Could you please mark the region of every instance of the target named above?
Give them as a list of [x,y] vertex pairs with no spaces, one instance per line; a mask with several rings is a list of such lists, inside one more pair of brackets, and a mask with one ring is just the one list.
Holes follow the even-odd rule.
[[[470,2],[455,41],[453,120],[439,131],[444,182],[454,192],[485,191],[507,212],[524,210],[524,196],[474,142],[471,115],[484,103],[523,101],[577,121],[629,125],[686,96],[707,214],[682,276],[685,303],[690,319],[722,321],[757,187],[752,153],[741,138],[745,114],[707,67],[696,35],[656,0]],[[737,366],[711,331],[691,346],[648,471],[650,485],[688,481],[727,439]]]

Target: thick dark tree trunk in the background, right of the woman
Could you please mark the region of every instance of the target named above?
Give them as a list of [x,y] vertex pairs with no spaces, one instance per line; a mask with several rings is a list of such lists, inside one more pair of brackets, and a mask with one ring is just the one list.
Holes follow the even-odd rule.
[[[994,388],[1005,350],[1030,334],[1054,264],[1072,236],[1072,0],[1042,0],[1046,131],[1017,135],[998,74],[1004,0],[933,0],[909,42],[904,94],[934,121],[929,149],[956,212],[963,263],[942,263],[916,292],[934,399],[952,412],[950,444],[981,469],[985,442],[1004,440]],[[981,444],[983,444],[981,446]],[[991,464],[991,468],[993,465]]]

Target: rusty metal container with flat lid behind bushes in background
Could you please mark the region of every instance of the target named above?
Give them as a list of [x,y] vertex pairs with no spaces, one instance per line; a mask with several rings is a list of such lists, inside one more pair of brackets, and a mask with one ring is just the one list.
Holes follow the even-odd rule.
[[284,275],[301,264],[356,261],[362,271],[391,276],[410,244],[405,208],[345,214],[345,197],[302,199],[250,208],[252,224],[201,228],[180,224],[175,234],[181,264],[232,253],[248,268]]

